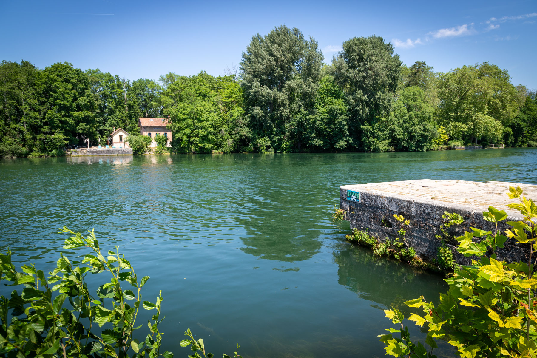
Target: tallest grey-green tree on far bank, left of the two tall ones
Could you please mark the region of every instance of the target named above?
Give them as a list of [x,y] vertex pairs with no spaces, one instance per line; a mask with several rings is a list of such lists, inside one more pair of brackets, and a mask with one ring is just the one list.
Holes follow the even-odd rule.
[[317,42],[281,25],[253,36],[242,58],[246,120],[253,138],[268,138],[276,151],[300,150],[307,142],[304,133],[314,114],[323,60]]

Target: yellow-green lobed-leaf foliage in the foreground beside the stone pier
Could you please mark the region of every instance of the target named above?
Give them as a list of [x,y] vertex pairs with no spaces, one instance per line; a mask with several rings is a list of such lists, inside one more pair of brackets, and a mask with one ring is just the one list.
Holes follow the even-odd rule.
[[[503,210],[489,207],[484,219],[495,223],[496,229],[484,231],[471,228],[457,237],[458,251],[466,257],[475,256],[470,266],[462,266],[454,276],[446,279],[449,290],[440,294],[435,306],[423,296],[405,302],[409,307],[421,308],[423,313],[406,317],[418,326],[428,327],[425,343],[411,339],[405,316],[395,308],[385,310],[386,317],[397,325],[379,338],[386,344],[386,353],[396,357],[433,358],[437,339],[454,346],[465,358],[475,357],[535,357],[537,356],[537,310],[533,278],[537,249],[537,207],[531,199],[522,196],[520,187],[509,188],[509,197],[519,202],[509,204],[518,210],[523,220],[507,222],[512,226],[506,236],[498,232],[498,222],[507,218]],[[503,247],[507,237],[529,246],[527,262],[507,264],[497,260],[497,247]],[[474,241],[474,238],[477,238]],[[485,254],[493,252],[490,257]],[[535,261],[534,261],[535,260]],[[394,337],[398,333],[400,337]]]

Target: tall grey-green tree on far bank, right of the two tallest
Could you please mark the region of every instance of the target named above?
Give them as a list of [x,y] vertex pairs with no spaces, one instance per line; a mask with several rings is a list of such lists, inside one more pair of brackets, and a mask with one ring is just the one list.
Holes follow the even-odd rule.
[[380,36],[352,38],[334,58],[335,80],[349,107],[349,133],[356,148],[374,150],[382,116],[389,112],[400,78],[401,61]]

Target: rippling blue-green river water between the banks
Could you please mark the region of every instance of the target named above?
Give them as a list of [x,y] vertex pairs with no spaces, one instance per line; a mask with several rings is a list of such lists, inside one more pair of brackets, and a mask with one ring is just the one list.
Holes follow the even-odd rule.
[[339,186],[537,184],[536,162],[531,148],[6,159],[0,250],[49,270],[65,238],[57,228],[95,228],[101,247],[119,245],[151,276],[145,299],[162,289],[163,348],[176,357],[190,352],[179,346],[189,327],[217,356],[236,342],[245,357],[383,356],[382,310],[422,294],[434,301],[445,284],[346,243],[349,224],[329,220]]

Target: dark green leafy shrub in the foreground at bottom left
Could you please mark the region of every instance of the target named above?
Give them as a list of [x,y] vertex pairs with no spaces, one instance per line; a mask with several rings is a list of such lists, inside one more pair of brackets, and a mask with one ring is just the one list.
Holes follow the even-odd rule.
[[[0,296],[0,356],[173,358],[173,353],[161,352],[162,291],[155,302],[142,299],[149,276],[139,278],[118,246],[102,251],[93,231],[86,237],[66,227],[60,232],[74,235],[65,240],[64,249],[90,253],[75,260],[61,254],[48,277],[34,265],[18,271],[11,252],[0,254],[0,281],[12,289],[9,296]],[[110,280],[97,287],[88,274]],[[137,325],[141,308],[155,312],[147,325]],[[185,335],[180,345],[190,346],[194,353],[189,357],[213,357],[203,339],[195,339],[190,329]],[[234,358],[242,357],[235,352]]]

